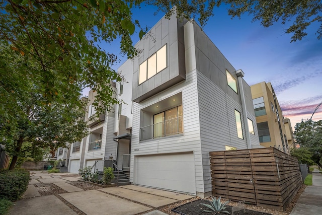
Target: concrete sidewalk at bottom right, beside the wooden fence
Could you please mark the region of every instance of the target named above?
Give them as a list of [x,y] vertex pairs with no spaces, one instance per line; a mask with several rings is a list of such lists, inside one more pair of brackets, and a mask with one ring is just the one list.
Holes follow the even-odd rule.
[[321,214],[322,174],[317,169],[312,172],[312,186],[307,186],[290,215]]

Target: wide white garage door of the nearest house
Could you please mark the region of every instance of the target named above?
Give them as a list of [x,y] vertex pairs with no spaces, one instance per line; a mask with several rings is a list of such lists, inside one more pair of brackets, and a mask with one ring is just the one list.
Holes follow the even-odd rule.
[[134,183],[196,194],[193,153],[135,156]]

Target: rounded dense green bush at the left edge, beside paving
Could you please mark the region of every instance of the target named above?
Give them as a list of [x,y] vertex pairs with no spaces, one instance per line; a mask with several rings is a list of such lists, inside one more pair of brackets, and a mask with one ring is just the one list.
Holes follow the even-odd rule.
[[1,170],[0,171],[0,198],[16,201],[21,198],[28,188],[30,175],[27,170]]

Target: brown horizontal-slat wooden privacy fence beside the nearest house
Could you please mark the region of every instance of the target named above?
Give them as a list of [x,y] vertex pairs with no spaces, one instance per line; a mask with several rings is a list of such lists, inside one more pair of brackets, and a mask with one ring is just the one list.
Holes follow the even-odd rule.
[[210,152],[212,193],[284,211],[302,184],[297,159],[275,148]]

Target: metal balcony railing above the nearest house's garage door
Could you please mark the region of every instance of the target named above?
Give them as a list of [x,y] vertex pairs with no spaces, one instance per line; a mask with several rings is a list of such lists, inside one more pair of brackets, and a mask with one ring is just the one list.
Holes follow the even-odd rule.
[[183,116],[168,119],[140,128],[140,140],[183,133]]

